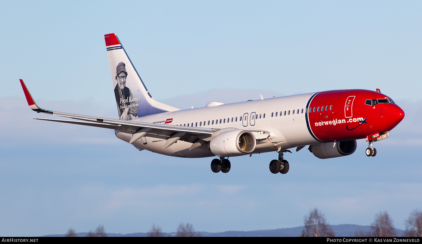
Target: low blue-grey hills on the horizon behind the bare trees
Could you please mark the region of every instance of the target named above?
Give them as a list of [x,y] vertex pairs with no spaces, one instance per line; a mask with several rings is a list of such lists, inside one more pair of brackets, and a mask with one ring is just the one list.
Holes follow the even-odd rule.
[[[344,224],[344,225],[330,225],[330,227],[333,229],[335,236],[354,236],[356,231],[364,231],[368,232],[370,231],[369,225],[350,225],[350,224]],[[299,227],[293,227],[293,228],[282,228],[282,229],[275,229],[275,230],[261,230],[261,231],[225,231],[225,232],[217,232],[217,233],[210,233],[210,232],[201,232],[202,236],[219,236],[219,237],[235,237],[235,236],[253,236],[253,237],[259,237],[259,236],[265,236],[265,237],[271,237],[271,236],[300,236],[300,233],[304,229],[304,226]],[[403,236],[404,231],[400,229],[396,229],[398,236]],[[78,236],[86,236],[87,232],[80,232],[77,233]],[[164,236],[175,236],[176,232],[170,232],[170,233],[164,233]],[[65,234],[62,235],[47,235],[45,237],[49,236],[65,236]],[[148,236],[148,233],[130,233],[130,234],[120,234],[120,233],[107,233],[107,236],[110,237],[145,237]]]

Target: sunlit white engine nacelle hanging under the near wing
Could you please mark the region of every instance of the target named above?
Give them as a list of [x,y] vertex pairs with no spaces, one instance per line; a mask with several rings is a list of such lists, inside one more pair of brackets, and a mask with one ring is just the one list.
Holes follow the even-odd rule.
[[257,140],[251,131],[230,130],[211,139],[209,147],[215,156],[231,157],[252,153]]

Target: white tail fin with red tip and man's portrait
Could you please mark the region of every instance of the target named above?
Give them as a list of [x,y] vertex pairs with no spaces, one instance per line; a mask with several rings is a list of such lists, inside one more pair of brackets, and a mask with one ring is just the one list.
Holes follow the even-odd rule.
[[155,101],[133,67],[116,35],[104,35],[119,118],[130,120],[154,113],[179,110]]

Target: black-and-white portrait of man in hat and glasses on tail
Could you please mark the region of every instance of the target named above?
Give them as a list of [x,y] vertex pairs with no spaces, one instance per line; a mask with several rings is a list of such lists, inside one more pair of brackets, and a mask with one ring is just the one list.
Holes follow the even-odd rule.
[[117,85],[114,88],[119,119],[131,120],[138,118],[138,104],[133,101],[132,91],[126,87],[126,65],[120,62],[116,66]]

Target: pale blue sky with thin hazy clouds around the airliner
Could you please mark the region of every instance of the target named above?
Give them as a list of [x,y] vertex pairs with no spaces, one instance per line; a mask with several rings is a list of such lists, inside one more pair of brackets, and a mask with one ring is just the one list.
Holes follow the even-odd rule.
[[[113,8],[111,8],[113,6]],[[8,2],[0,16],[0,235],[89,231],[257,230],[368,225],[387,210],[398,228],[422,208],[422,3],[389,1]],[[139,152],[114,131],[35,121],[24,79],[49,110],[116,118],[103,36],[116,33],[152,96],[179,107],[210,101],[380,88],[406,113],[366,157],[320,160],[303,149],[273,175],[276,153],[211,158]]]

